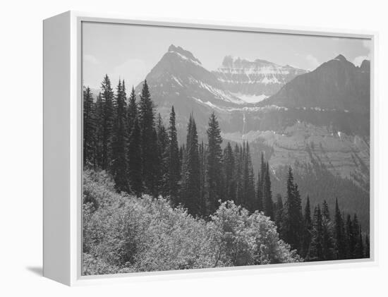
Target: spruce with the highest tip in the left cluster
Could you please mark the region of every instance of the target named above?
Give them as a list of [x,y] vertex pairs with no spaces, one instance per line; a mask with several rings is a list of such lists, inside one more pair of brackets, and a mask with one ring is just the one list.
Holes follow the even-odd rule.
[[110,169],[111,166],[111,142],[112,128],[114,124],[114,92],[111,87],[111,80],[105,75],[101,83],[102,97],[102,169]]

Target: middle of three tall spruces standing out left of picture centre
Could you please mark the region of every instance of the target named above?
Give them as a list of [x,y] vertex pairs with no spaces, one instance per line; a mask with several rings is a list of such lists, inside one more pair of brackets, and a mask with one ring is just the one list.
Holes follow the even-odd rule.
[[188,122],[186,157],[182,171],[181,201],[193,216],[200,215],[200,157],[197,126],[193,114]]

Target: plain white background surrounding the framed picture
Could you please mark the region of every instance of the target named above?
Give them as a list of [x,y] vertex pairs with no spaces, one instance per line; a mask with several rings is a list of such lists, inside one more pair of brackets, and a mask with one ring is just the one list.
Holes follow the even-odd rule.
[[[2,1],[0,17],[1,296],[387,296],[387,53],[385,1]],[[377,98],[376,267],[68,288],[42,269],[42,20],[68,10],[374,30]],[[183,20],[184,21],[184,20]],[[385,274],[385,275],[384,275]]]

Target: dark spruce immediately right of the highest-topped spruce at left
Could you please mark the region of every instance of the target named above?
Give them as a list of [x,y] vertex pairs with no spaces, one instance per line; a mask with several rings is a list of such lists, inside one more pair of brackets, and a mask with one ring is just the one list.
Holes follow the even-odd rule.
[[128,183],[128,159],[126,145],[128,143],[128,128],[126,114],[126,86],[119,80],[114,100],[114,126],[112,129],[112,164],[111,174],[118,192],[130,192]]

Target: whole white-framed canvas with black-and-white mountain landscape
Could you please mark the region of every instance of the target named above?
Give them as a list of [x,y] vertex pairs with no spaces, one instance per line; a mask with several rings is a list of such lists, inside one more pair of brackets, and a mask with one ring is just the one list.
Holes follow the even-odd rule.
[[373,265],[374,32],[44,20],[44,276]]

